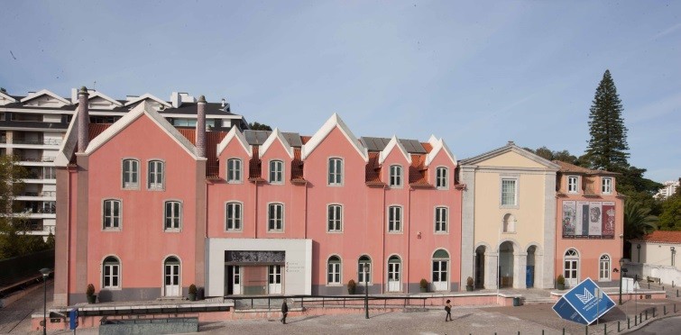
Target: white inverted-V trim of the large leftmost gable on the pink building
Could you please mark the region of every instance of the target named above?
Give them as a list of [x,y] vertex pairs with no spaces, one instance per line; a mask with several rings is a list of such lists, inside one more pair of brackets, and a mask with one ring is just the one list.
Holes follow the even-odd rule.
[[[156,112],[156,110],[154,110],[146,101],[134,107],[130,113],[125,114],[120,120],[112,124],[111,127],[107,128],[106,131],[103,131],[95,139],[91,140],[87,145],[85,153],[87,155],[92,154],[108,140],[111,140],[116,134],[123,131],[128,125],[143,115],[147,115],[152,122],[156,123],[156,125],[158,125],[162,131],[166,132],[172,140],[178,143],[182,149],[185,149],[187,153],[189,153],[189,156],[197,160],[206,159],[199,158],[197,156],[197,149],[193,144],[191,144],[191,141],[182,136],[182,134],[179,133],[179,131],[175,129],[170,122],[168,122],[160,113]],[[76,118],[74,118],[74,120],[76,120]]]

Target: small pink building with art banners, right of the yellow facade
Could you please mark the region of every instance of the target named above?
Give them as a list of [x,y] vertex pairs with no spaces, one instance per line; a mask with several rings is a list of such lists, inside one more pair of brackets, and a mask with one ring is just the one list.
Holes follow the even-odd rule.
[[618,285],[624,233],[623,198],[617,174],[555,161],[557,173],[556,276],[566,287],[587,277]]

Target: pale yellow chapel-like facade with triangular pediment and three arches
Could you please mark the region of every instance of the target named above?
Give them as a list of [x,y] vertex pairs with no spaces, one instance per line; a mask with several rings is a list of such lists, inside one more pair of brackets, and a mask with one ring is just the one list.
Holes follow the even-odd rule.
[[478,288],[552,288],[557,164],[516,146],[460,161],[461,281]]

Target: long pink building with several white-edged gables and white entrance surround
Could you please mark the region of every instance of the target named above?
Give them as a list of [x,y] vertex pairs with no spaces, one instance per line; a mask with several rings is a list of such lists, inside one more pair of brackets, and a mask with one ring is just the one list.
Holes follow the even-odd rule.
[[357,139],[336,114],[309,137],[176,129],[146,104],[110,125],[77,120],[55,162],[55,305],[85,301],[88,284],[103,302],[191,284],[207,296],[346,294],[351,279],[371,294],[416,293],[422,278],[461,288],[461,187],[441,139]]

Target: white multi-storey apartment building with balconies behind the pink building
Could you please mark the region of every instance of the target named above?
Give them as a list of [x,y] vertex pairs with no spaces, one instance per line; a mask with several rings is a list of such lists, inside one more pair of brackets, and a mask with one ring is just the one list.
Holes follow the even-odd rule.
[[[47,89],[12,95],[0,89],[0,154],[14,155],[28,169],[23,193],[14,198],[14,215],[27,219],[29,233],[47,236],[56,222],[56,175],[54,158],[69,122],[78,108],[77,89],[71,96],[56,95]],[[196,127],[197,99],[173,92],[170,102],[150,94],[113,99],[88,90],[90,123],[113,123],[136,105],[152,105],[176,127]],[[206,105],[206,125],[228,131],[232,126],[248,129],[243,116],[231,113],[225,102]]]

